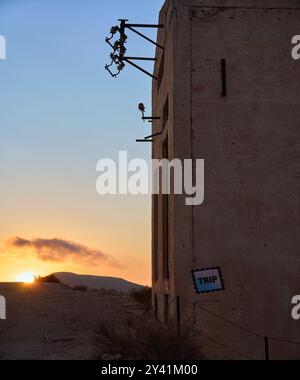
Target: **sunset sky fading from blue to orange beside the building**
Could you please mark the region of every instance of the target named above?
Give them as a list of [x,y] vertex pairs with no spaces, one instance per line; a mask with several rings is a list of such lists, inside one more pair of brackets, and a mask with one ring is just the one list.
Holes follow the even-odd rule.
[[[96,164],[149,158],[137,104],[151,79],[104,65],[118,18],[156,23],[163,0],[1,0],[0,281],[57,271],[150,283],[150,198],[100,196]],[[156,31],[148,31],[155,37]],[[130,34],[130,55],[154,47]]]

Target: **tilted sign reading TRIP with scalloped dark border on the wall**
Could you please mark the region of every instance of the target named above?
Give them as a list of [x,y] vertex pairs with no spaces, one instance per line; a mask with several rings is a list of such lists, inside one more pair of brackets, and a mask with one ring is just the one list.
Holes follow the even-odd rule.
[[219,267],[194,270],[192,273],[197,293],[211,293],[225,290],[222,272]]

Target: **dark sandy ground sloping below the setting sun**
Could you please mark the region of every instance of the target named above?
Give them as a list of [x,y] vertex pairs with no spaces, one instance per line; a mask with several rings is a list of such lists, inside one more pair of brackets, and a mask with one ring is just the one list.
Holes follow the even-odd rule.
[[0,283],[7,319],[0,320],[0,359],[97,359],[100,321],[144,313],[127,296],[78,292],[60,284]]

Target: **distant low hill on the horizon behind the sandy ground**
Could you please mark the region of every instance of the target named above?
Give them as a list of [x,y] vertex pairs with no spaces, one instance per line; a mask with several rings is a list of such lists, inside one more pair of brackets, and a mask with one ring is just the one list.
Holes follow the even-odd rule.
[[79,275],[65,272],[53,273],[53,275],[58,278],[61,283],[71,288],[84,285],[89,289],[116,290],[122,293],[128,293],[131,289],[143,288],[142,285],[123,280],[122,278]]

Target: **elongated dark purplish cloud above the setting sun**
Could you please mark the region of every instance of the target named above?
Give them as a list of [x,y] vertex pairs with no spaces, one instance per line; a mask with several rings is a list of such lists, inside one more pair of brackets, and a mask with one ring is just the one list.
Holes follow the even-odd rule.
[[25,253],[30,250],[40,260],[47,262],[57,263],[71,260],[88,265],[107,264],[121,267],[112,256],[69,240],[57,238],[27,240],[16,236],[7,241],[7,247]]

